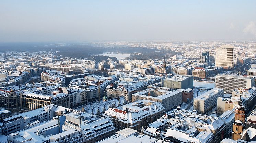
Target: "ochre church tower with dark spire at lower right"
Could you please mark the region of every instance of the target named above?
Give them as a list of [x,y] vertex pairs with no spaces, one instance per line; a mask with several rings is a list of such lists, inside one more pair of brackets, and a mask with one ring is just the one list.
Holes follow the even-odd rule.
[[243,125],[245,121],[245,107],[240,95],[238,105],[235,107],[235,122],[233,123],[232,139],[241,139],[243,133]]

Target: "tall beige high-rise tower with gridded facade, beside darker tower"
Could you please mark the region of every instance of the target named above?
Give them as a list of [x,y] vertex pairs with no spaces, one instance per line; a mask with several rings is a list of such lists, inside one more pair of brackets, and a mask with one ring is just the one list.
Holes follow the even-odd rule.
[[222,45],[215,49],[215,66],[234,68],[234,45]]

